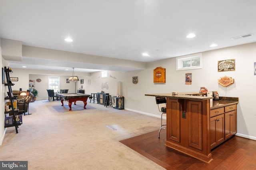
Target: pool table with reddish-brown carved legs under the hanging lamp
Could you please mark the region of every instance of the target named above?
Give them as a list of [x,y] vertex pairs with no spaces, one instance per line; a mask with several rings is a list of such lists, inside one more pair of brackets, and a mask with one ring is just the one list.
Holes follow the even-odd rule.
[[60,98],[61,106],[63,106],[63,100],[68,101],[69,110],[71,111],[72,102],[76,105],[76,101],[83,101],[84,102],[84,109],[86,109],[87,99],[90,94],[82,94],[82,93],[57,93],[56,96]]

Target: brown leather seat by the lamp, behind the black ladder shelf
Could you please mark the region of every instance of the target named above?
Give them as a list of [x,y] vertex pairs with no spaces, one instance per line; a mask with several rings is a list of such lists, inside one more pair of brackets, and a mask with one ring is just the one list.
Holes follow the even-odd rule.
[[29,92],[29,95],[26,96],[26,98],[24,99],[25,100],[25,103],[24,103],[24,101],[21,100],[21,99],[23,99],[23,96],[20,95],[22,92],[27,93],[27,91],[13,90],[12,94],[13,94],[13,96],[17,96],[17,107],[19,109],[19,114],[24,113],[24,115],[25,115],[26,112],[29,111],[29,103],[32,100],[32,98],[34,97],[34,95]]

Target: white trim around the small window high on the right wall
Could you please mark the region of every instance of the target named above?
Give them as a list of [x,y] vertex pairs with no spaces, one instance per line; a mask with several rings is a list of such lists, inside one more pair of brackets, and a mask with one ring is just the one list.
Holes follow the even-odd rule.
[[[200,66],[190,66],[183,67],[182,62],[191,59],[200,59]],[[176,71],[178,70],[192,70],[192,69],[201,69],[202,68],[202,53],[196,53],[191,55],[185,55],[181,57],[176,57]]]

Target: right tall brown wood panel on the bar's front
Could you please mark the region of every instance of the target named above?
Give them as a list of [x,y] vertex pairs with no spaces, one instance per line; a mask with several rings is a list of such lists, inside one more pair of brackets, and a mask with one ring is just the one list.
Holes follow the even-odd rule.
[[188,145],[202,150],[202,102],[188,101]]

